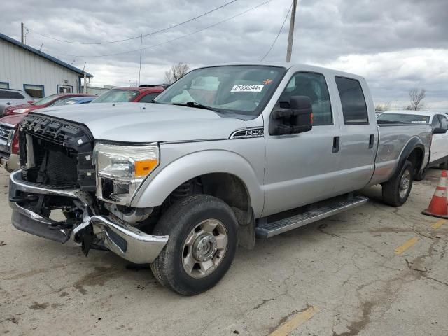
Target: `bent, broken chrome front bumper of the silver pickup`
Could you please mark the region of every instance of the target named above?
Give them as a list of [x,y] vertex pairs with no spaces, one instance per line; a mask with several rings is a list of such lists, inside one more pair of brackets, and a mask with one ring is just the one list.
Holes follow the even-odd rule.
[[[136,264],[153,262],[167,244],[168,236],[148,235],[118,218],[109,216],[85,216],[83,223],[73,230],[51,230],[49,226],[56,222],[36,214],[32,209],[27,209],[26,202],[20,201],[21,193],[53,195],[81,200],[80,190],[58,190],[38,186],[22,179],[22,169],[15,171],[10,174],[9,199],[10,207],[13,209],[11,221],[18,230],[59,241],[62,244],[80,246],[77,233],[92,225],[95,237],[104,247]],[[83,201],[81,200],[81,202]]]

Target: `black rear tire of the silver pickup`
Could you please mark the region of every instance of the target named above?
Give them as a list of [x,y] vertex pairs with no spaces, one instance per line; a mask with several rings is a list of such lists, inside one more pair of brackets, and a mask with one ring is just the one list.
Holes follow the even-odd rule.
[[[414,168],[412,167],[412,163],[407,161],[398,176],[383,183],[383,202],[385,204],[388,204],[391,207],[400,207],[406,202],[407,197],[409,197],[409,193],[411,193],[412,190],[412,182],[414,180],[413,172]],[[402,186],[403,176],[408,177],[409,183],[406,192],[400,195],[400,191],[404,191],[400,188]]]

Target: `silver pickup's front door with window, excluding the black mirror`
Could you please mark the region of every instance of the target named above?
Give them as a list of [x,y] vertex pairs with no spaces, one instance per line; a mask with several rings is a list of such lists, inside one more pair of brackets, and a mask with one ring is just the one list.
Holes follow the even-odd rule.
[[[339,129],[322,73],[299,71],[290,78],[276,106],[293,96],[311,99],[314,123],[309,132],[270,135],[265,116],[265,209],[269,216],[331,197],[339,169]],[[275,109],[275,108],[274,108]]]

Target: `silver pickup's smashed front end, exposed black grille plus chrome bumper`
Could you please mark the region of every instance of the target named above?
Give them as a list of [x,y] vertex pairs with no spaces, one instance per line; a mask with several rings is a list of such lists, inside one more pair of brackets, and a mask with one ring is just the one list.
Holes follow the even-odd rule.
[[[10,175],[13,225],[39,237],[82,246],[86,255],[90,248],[102,248],[136,264],[153,262],[168,237],[141,231],[135,223],[123,221],[126,216],[116,216],[116,206],[106,204],[109,210],[97,200],[93,146],[87,127],[27,116],[20,125],[22,169]],[[62,211],[65,219],[50,218],[52,211]]]

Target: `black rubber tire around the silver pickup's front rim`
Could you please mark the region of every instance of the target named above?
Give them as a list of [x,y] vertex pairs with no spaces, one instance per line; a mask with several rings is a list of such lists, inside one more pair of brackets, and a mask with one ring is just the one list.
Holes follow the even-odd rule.
[[[193,229],[209,219],[219,221],[225,228],[227,247],[214,271],[198,279],[184,268],[186,248],[187,251],[194,249],[184,244],[194,233]],[[151,264],[155,278],[176,293],[196,295],[215,286],[232,265],[238,244],[238,222],[232,209],[222,200],[210,195],[193,195],[173,204],[155,225],[153,234],[169,236],[167,245]]]

